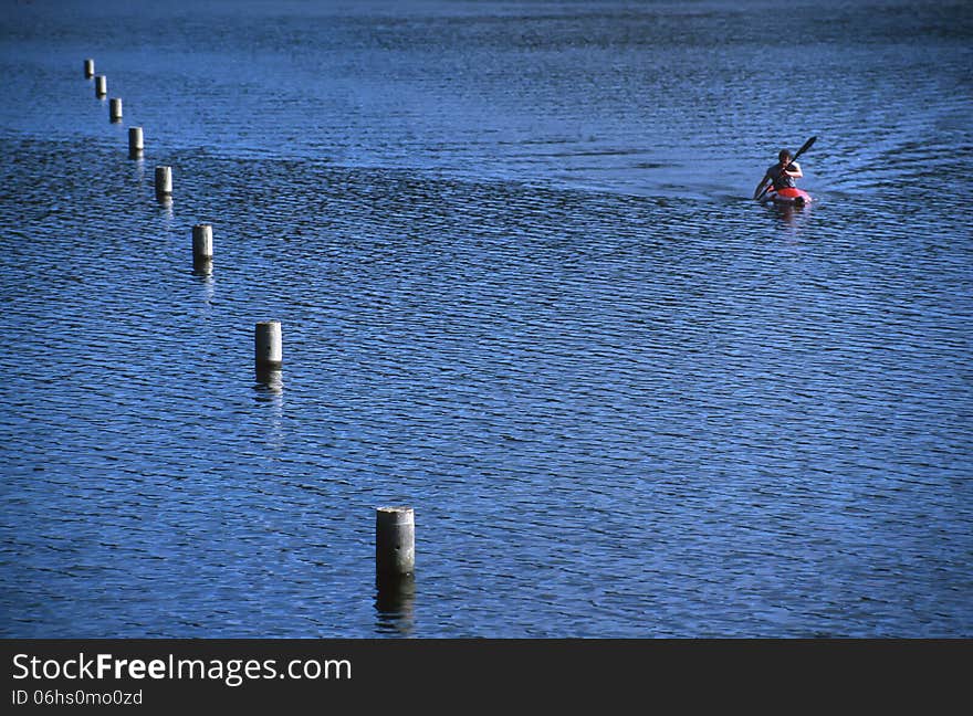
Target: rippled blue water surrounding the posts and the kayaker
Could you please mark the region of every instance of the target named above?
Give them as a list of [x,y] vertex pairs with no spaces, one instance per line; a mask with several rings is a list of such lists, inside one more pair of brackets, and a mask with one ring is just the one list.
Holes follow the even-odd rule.
[[0,635],[973,635],[970,3],[0,14]]

